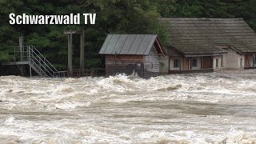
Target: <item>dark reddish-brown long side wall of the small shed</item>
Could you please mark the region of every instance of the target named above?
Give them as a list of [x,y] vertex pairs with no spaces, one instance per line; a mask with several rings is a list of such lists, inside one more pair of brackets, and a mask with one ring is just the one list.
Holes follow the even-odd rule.
[[106,55],[106,76],[138,73],[143,77],[142,55]]

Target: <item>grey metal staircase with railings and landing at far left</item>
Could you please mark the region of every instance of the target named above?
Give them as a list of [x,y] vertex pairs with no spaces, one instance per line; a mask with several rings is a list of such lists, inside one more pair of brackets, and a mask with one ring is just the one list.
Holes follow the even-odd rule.
[[58,70],[34,47],[14,47],[14,62],[6,62],[4,65],[26,65],[30,66],[30,76],[34,70],[40,77],[58,77]]

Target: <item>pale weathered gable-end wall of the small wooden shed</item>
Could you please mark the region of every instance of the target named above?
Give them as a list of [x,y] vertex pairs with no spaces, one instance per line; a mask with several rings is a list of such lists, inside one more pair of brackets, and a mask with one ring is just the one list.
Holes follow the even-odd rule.
[[158,56],[157,50],[154,47],[150,50],[150,54],[144,56],[144,77],[150,78],[156,77],[159,75],[160,65],[159,65],[160,57]]

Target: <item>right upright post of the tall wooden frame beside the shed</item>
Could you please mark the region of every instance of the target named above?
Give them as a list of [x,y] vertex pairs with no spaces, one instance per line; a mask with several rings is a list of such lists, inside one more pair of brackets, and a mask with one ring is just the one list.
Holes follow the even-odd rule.
[[80,69],[82,69],[82,75],[85,74],[85,31],[82,30],[80,34]]

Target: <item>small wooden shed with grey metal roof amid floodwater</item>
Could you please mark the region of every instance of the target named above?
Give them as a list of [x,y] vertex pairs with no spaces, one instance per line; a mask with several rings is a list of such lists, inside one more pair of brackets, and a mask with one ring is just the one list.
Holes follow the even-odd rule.
[[108,34],[99,54],[106,56],[106,76],[135,72],[150,78],[159,75],[165,50],[155,34]]

